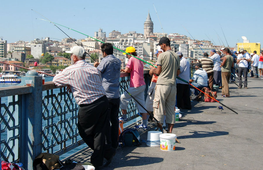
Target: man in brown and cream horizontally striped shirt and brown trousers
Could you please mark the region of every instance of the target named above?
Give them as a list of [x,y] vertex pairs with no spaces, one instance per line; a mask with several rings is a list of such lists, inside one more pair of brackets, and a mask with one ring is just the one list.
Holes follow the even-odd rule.
[[212,59],[207,58],[208,54],[207,52],[204,53],[204,57],[201,59],[198,59],[197,62],[202,64],[202,69],[206,71],[207,77],[208,77],[208,86],[210,90],[213,90],[213,76],[214,76],[214,62]]

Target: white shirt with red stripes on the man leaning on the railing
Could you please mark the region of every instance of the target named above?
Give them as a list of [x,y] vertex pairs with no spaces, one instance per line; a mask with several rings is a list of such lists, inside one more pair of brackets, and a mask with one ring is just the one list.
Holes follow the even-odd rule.
[[70,85],[78,105],[90,104],[106,94],[100,71],[85,60],[78,60],[57,74],[53,83],[56,87]]

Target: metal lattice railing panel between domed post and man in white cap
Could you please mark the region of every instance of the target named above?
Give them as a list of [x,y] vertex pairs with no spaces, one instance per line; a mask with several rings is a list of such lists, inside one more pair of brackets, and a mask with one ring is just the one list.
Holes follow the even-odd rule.
[[61,155],[65,148],[78,146],[78,109],[72,93],[66,88],[43,92],[42,144],[43,150]]

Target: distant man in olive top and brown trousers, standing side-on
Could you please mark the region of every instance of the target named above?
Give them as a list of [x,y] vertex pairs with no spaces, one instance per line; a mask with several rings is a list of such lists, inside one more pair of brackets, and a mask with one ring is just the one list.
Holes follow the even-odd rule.
[[224,48],[223,52],[225,56],[221,63],[222,97],[230,97],[228,82],[231,76],[231,66],[234,67],[234,59],[228,48]]

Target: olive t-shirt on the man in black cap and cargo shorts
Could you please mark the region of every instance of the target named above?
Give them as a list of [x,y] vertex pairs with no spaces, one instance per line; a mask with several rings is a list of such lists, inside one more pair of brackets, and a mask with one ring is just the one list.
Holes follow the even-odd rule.
[[161,73],[156,84],[176,86],[176,74],[180,69],[180,58],[172,50],[159,54],[157,66],[161,66]]

